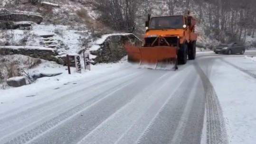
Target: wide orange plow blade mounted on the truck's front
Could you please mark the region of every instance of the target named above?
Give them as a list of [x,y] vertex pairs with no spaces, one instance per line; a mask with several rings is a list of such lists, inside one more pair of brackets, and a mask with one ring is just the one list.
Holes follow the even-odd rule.
[[128,53],[128,61],[139,63],[141,66],[150,66],[154,69],[177,67],[177,47],[172,46],[155,46],[155,47],[136,47],[125,46]]

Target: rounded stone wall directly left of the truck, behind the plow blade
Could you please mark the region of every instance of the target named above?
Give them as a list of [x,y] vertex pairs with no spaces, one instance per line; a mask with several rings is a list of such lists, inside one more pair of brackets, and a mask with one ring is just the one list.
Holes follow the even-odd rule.
[[110,63],[118,62],[121,60],[127,52],[124,48],[124,43],[131,42],[137,46],[142,45],[142,41],[139,40],[134,34],[125,35],[112,35],[109,36],[105,42],[100,44],[100,49],[97,51],[90,51],[91,54],[97,57],[94,60],[95,63]]

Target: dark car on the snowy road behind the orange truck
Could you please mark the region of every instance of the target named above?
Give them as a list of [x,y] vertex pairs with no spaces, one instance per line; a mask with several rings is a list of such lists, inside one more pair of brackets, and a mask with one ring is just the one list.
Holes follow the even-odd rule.
[[238,42],[232,42],[229,44],[220,44],[215,49],[215,53],[223,53],[223,54],[235,54],[240,53],[244,54],[246,51],[246,47],[243,44]]

